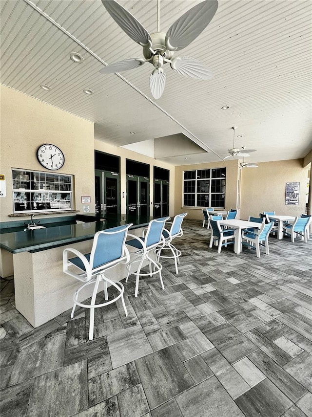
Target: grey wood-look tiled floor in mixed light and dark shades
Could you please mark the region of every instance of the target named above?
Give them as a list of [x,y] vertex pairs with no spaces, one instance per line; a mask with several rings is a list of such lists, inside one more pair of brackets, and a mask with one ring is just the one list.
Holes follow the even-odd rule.
[[2,279],[1,416],[311,417],[312,240],[217,254],[200,223],[184,220],[165,289],[126,284],[128,317],[98,309],[92,341],[82,309],[33,329]]

